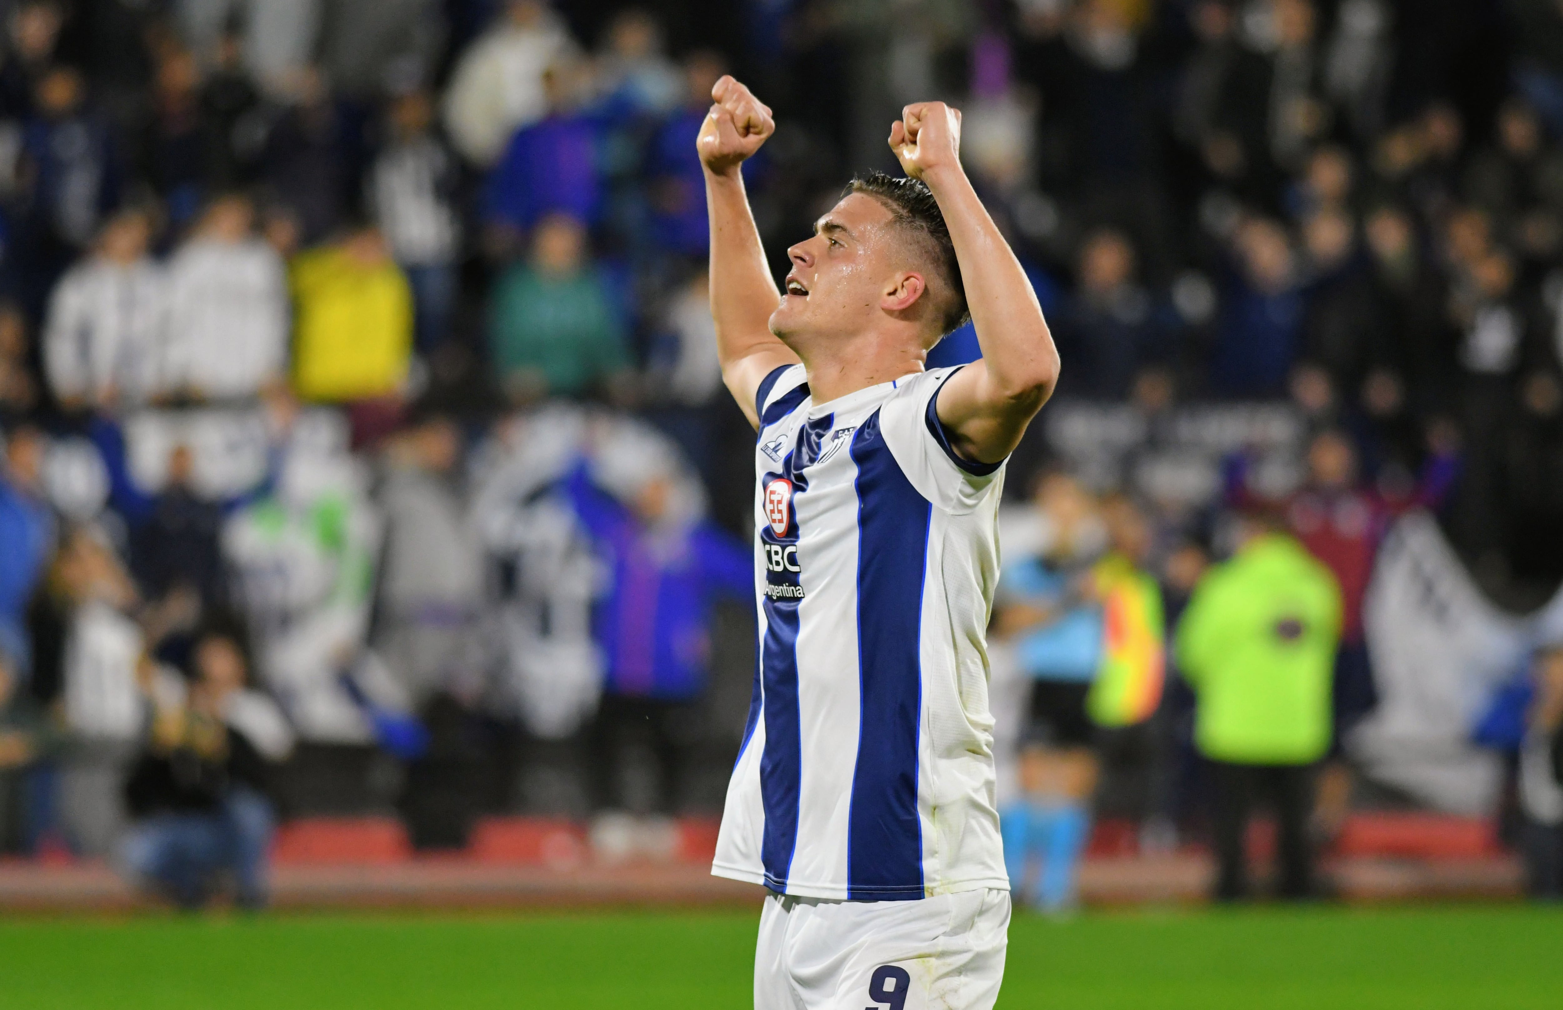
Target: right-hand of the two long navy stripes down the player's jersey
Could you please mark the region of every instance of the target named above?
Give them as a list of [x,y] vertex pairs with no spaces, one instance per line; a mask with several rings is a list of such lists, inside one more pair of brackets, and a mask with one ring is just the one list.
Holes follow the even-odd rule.
[[902,474],[880,414],[852,438],[858,464],[858,679],[861,725],[847,815],[847,897],[922,897],[917,735],[922,588],[933,507]]

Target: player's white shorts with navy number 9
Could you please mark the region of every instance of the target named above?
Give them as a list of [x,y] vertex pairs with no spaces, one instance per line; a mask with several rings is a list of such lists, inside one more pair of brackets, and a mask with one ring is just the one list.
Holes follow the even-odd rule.
[[1010,893],[921,901],[767,894],[755,1010],[991,1010],[1003,982]]

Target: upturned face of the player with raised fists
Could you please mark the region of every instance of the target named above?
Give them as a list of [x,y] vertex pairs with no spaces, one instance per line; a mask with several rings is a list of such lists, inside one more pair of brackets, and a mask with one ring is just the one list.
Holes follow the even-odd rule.
[[771,331],[794,350],[861,333],[880,311],[891,261],[894,224],[874,197],[849,194],[814,222],[814,235],[792,249],[782,305]]

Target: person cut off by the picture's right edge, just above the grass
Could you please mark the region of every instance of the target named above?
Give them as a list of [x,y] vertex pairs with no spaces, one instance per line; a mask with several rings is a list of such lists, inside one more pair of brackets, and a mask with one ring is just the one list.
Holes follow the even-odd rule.
[[1525,876],[1532,897],[1563,899],[1563,649],[1535,661],[1535,699],[1519,752]]

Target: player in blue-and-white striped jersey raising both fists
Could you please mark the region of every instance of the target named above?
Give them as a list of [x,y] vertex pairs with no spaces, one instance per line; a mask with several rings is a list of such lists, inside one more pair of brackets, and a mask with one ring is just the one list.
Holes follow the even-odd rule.
[[[711,311],[760,433],[760,660],[713,872],[771,891],[756,1010],[988,1008],[1010,924],[996,514],[1058,353],[961,169],[957,109],[907,106],[908,178],[853,180],[778,294],[739,175],[771,109],[731,77],[711,97]],[[925,371],[967,311],[983,360]]]

